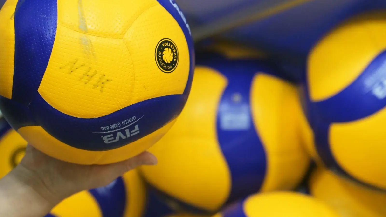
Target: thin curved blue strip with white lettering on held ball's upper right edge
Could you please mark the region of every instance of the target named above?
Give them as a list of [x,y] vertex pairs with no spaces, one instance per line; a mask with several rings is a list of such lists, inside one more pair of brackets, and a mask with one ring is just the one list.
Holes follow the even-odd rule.
[[174,0],[157,0],[160,5],[162,5],[178,22],[181,26],[182,31],[185,34],[186,42],[188,43],[189,56],[190,56],[190,71],[188,82],[186,83],[184,95],[188,97],[191,89],[191,83],[193,81],[193,74],[195,69],[195,49],[193,38],[191,37],[190,26],[186,21],[185,15],[179,9],[177,3]]

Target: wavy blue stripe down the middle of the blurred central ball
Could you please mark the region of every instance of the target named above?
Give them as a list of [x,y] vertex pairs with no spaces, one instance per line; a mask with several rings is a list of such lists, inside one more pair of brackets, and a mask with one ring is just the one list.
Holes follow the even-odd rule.
[[254,127],[251,113],[251,85],[259,72],[269,72],[258,60],[198,60],[200,65],[220,71],[227,77],[217,113],[217,139],[232,176],[228,202],[258,192],[267,165],[266,153]]

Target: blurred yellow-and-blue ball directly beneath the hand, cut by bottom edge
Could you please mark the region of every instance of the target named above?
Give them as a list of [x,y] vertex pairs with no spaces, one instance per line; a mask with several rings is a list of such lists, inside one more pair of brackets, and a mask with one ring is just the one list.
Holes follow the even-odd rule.
[[145,192],[137,170],[132,170],[108,186],[63,200],[46,217],[141,217]]

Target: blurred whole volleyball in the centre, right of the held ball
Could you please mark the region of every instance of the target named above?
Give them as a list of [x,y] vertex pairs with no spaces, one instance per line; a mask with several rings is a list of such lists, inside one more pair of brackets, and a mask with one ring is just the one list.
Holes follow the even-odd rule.
[[255,192],[290,190],[305,175],[295,86],[259,59],[197,55],[176,124],[149,151],[142,174],[172,207],[217,212]]

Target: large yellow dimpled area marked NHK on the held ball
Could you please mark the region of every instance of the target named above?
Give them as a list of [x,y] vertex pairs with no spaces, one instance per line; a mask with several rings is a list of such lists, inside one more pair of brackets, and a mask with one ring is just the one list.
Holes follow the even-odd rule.
[[[117,0],[80,4],[76,0],[58,4],[56,39],[39,86],[47,103],[64,114],[96,118],[143,100],[184,92],[188,73],[183,72],[190,67],[188,45],[179,24],[156,0],[135,2],[134,7],[131,2]],[[121,13],[101,12],[112,5]],[[133,13],[124,13],[122,8],[131,8]],[[86,10],[83,16],[87,17],[79,17],[82,10]],[[132,19],[133,15],[137,17]],[[69,17],[70,24],[79,26],[62,26],[61,20]],[[127,24],[111,29],[117,17]],[[88,26],[94,29],[89,30]],[[179,71],[170,75],[156,64],[149,64],[154,61],[160,36],[171,38],[178,47]]]

